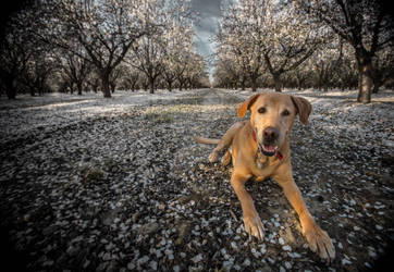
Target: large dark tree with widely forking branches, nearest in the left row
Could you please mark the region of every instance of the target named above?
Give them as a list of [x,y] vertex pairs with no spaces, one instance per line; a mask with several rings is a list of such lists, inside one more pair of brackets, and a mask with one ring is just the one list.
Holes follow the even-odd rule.
[[88,4],[48,0],[41,16],[41,24],[48,27],[36,34],[48,44],[87,59],[100,76],[103,96],[110,98],[111,73],[146,34],[143,27],[146,22],[140,17],[146,2],[149,0],[90,1]]

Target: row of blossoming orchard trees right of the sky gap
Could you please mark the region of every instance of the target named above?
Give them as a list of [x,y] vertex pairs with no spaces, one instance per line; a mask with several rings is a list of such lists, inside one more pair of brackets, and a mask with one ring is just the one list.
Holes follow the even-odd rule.
[[394,81],[394,21],[374,0],[238,0],[216,37],[214,86],[354,88]]

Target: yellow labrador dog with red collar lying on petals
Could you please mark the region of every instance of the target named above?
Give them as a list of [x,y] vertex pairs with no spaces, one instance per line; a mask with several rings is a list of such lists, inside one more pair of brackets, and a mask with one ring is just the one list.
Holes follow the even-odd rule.
[[235,123],[221,139],[195,137],[198,143],[218,145],[209,156],[211,162],[218,160],[220,151],[227,149],[222,164],[233,162],[231,185],[241,201],[246,232],[259,239],[264,235],[245,183],[253,176],[256,181],[273,177],[296,210],[310,249],[324,260],[334,259],[334,246],[308,211],[292,172],[288,134],[297,114],[303,124],[308,123],[311,104],[300,97],[267,92],[243,102],[237,110],[238,118],[245,116],[248,110],[250,120]]

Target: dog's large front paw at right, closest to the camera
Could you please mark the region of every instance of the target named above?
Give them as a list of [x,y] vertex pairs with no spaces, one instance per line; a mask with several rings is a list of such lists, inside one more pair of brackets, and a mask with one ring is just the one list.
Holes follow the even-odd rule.
[[329,235],[316,223],[304,230],[304,235],[310,249],[317,252],[321,259],[330,262],[335,258],[335,248]]

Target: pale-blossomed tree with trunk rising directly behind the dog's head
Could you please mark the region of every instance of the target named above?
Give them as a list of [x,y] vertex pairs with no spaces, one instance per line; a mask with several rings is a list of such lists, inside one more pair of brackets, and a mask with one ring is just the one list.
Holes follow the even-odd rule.
[[275,91],[282,90],[281,76],[295,70],[324,41],[325,29],[308,21],[292,3],[267,1],[263,18],[263,58]]

